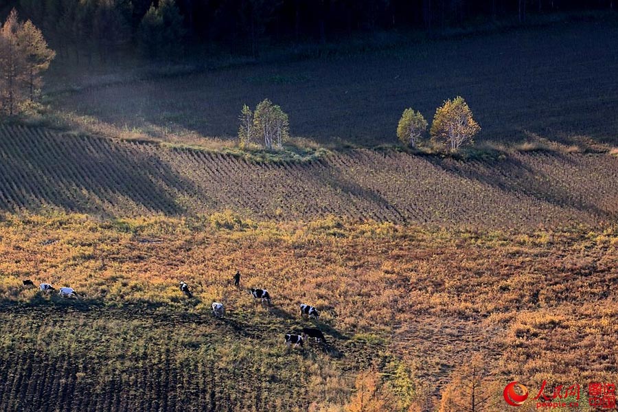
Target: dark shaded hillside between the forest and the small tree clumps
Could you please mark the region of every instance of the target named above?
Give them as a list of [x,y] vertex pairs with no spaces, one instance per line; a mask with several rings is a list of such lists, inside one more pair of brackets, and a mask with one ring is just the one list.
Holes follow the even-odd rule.
[[[413,106],[431,120],[463,95],[483,128],[479,139],[591,137],[618,144],[615,22],[559,23],[382,52],[126,80],[89,76],[52,98],[69,123],[113,137],[204,144],[238,130],[242,104],[264,98],[290,114],[293,135],[322,144],[396,142]],[[93,70],[95,70],[93,68]],[[111,82],[111,84],[104,85]],[[89,87],[80,88],[80,84]],[[101,85],[97,85],[101,84]],[[77,89],[73,89],[77,87]]]

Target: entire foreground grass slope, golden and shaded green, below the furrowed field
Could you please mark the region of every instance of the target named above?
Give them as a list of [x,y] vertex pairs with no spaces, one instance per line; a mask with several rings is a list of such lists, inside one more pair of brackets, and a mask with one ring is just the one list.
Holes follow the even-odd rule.
[[[3,215],[0,410],[340,411],[372,366],[426,407],[474,354],[501,387],[618,378],[615,231],[222,220]],[[271,308],[230,286],[236,269]],[[282,335],[310,324],[330,346],[286,351]]]

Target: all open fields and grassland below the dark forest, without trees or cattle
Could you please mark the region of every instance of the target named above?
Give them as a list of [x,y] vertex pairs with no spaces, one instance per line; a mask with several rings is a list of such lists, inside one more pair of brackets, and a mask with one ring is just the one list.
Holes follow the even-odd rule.
[[[617,38],[596,21],[188,73],[52,67],[45,124],[68,131],[0,124],[0,412],[460,412],[470,371],[474,412],[505,411],[512,380],[518,411],[544,380],[582,387],[555,410],[593,411],[588,382],[618,384]],[[431,120],[455,95],[481,145],[390,146],[404,108]],[[240,150],[240,108],[264,98],[299,137]],[[309,325],[328,344],[286,348]]]

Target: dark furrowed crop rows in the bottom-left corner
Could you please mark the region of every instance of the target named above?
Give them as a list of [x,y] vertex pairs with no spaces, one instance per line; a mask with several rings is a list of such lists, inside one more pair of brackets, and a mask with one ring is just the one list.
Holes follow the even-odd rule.
[[[281,410],[273,396],[273,389],[277,389],[262,378],[265,371],[259,363],[242,370],[218,369],[209,361],[172,361],[171,354],[164,352],[152,353],[149,358],[140,367],[102,376],[94,369],[74,366],[76,356],[66,354],[46,362],[23,352],[14,361],[2,361],[9,373],[5,376],[3,371],[2,375],[5,390],[0,394],[0,411],[184,412],[225,407],[237,411],[240,405],[253,402],[263,411]],[[84,377],[78,378],[78,372]],[[301,376],[297,378],[302,382]],[[293,398],[307,407],[306,390],[293,391]]]

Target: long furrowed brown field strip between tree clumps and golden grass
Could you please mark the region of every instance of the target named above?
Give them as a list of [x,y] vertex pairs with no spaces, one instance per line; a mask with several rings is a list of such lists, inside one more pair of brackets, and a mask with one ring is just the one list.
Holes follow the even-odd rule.
[[553,152],[457,161],[348,150],[308,163],[0,126],[0,208],[100,216],[209,214],[258,220],[435,226],[602,225],[618,214],[618,158]]

